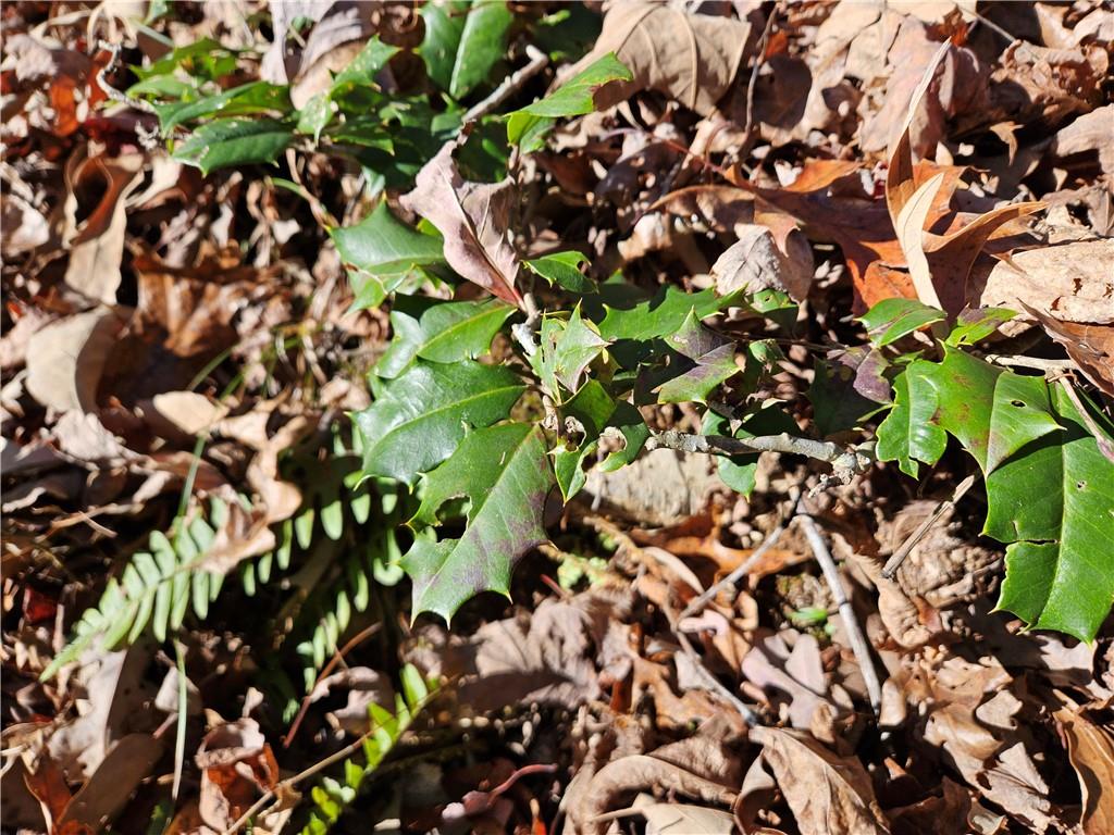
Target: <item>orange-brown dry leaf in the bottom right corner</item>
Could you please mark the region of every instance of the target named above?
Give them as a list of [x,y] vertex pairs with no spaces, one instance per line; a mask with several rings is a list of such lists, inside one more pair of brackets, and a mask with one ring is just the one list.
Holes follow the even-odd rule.
[[1078,710],[1063,707],[1053,716],[1067,739],[1067,758],[1083,795],[1081,824],[1084,835],[1114,832],[1114,733],[1091,721]]

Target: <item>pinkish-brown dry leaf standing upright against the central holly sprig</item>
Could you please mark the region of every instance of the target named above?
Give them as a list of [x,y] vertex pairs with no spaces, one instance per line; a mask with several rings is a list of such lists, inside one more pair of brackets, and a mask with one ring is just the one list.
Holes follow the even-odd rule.
[[518,255],[510,242],[515,184],[468,183],[457,170],[456,140],[446,143],[427,163],[401,204],[433,224],[444,236],[449,266],[470,282],[509,302],[521,304],[515,289]]

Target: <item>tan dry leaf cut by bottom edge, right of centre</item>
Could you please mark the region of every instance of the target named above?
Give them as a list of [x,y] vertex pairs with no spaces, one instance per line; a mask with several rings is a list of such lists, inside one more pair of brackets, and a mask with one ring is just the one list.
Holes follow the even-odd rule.
[[802,835],[883,835],[886,815],[857,757],[838,757],[807,734],[754,728]]

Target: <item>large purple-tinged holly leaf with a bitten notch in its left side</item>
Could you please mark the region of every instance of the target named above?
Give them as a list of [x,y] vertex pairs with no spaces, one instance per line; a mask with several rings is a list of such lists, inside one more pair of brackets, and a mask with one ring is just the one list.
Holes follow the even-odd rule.
[[554,484],[541,432],[509,423],[477,430],[426,479],[412,522],[436,522],[449,499],[468,497],[468,524],[456,540],[417,538],[402,559],[413,581],[413,611],[452,618],[480,591],[508,595],[518,559],[546,541],[543,514]]

